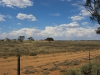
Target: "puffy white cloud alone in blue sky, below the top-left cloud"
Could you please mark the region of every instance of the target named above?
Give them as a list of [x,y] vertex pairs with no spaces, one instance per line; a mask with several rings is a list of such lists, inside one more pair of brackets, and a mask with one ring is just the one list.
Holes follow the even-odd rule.
[[28,19],[29,21],[37,21],[32,14],[27,15],[27,14],[19,13],[16,17],[21,20]]

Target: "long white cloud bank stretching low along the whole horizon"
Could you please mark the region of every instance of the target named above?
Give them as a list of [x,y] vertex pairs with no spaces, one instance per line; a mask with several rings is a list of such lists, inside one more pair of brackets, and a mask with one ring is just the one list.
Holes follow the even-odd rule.
[[2,33],[0,38],[18,38],[18,36],[23,35],[26,39],[33,36],[34,39],[45,39],[47,37],[53,37],[57,40],[97,40],[99,36],[95,33],[95,28],[80,27],[77,22],[69,24],[61,24],[57,26],[46,26],[45,29],[40,30],[37,28],[22,28],[19,30],[13,30],[9,33]]

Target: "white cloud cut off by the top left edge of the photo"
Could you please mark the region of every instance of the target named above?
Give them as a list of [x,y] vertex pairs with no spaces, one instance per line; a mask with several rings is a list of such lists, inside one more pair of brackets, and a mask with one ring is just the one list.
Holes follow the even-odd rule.
[[11,8],[26,8],[27,6],[32,6],[33,2],[31,0],[1,0],[0,5]]

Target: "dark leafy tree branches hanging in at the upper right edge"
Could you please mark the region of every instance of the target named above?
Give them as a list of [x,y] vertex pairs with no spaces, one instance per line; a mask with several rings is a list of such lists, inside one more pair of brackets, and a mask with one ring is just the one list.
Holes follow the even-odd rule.
[[[100,0],[86,0],[83,6],[90,12],[90,20],[100,24]],[[100,27],[96,30],[96,33],[100,34]]]

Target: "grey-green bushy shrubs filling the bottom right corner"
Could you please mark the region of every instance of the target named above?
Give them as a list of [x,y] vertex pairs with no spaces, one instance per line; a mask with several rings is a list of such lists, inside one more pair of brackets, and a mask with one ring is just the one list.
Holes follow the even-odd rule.
[[100,75],[100,63],[92,61],[80,68],[70,68],[63,75]]

